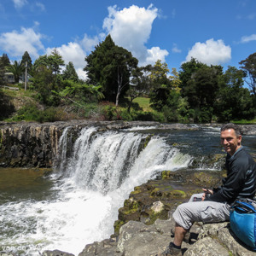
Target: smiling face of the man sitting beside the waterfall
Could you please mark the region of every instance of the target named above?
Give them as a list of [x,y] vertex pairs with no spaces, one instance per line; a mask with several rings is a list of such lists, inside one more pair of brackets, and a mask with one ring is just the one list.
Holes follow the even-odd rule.
[[241,135],[236,137],[234,129],[221,131],[220,139],[224,150],[230,155],[235,154],[236,150],[241,147]]

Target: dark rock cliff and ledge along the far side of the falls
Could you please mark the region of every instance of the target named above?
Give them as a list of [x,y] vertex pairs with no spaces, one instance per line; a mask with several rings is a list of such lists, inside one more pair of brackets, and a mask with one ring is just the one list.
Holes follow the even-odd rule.
[[[125,122],[72,120],[54,123],[0,122],[0,166],[51,167],[58,153],[58,141],[67,126],[73,137],[78,137],[85,126],[97,126],[98,131],[127,129],[137,126],[154,126],[160,130],[200,130],[209,125],[160,124],[157,122]],[[219,125],[212,125],[219,127]],[[256,125],[242,125],[245,134],[256,134]],[[72,145],[71,145],[72,146]]]

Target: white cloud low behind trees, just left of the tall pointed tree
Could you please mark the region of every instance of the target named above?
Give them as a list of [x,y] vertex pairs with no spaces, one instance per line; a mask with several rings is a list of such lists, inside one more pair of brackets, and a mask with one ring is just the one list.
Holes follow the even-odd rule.
[[[56,48],[59,52],[59,54],[62,56],[63,61],[65,61],[65,64],[69,61],[73,62],[73,66],[75,67],[79,78],[85,79],[86,73],[83,71],[83,68],[86,64],[84,61],[84,58],[86,56],[84,49],[82,49],[81,45],[78,43],[70,42],[68,44],[62,44],[61,47]],[[46,54],[50,55],[52,52],[52,48],[46,49]]]

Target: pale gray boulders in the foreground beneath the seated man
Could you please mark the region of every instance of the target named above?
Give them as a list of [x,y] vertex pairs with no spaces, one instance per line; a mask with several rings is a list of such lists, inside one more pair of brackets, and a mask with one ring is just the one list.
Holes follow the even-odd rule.
[[[161,253],[173,241],[173,218],[157,219],[154,224],[129,221],[121,227],[119,239],[108,239],[87,245],[79,256],[154,256]],[[192,226],[189,243],[183,242],[184,256],[253,256],[255,253],[236,240],[229,223]],[[47,254],[46,256],[49,256]]]

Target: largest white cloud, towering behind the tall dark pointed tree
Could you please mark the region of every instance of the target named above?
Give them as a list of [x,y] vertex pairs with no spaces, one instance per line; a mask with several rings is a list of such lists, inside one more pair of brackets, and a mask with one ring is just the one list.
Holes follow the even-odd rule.
[[111,34],[115,44],[131,51],[140,65],[154,64],[159,58],[165,61],[165,56],[168,55],[166,49],[147,49],[145,46],[157,16],[158,9],[153,5],[148,6],[148,9],[136,5],[122,10],[118,10],[116,6],[108,7],[108,17],[103,22],[103,28]]

